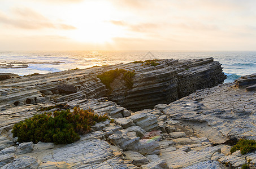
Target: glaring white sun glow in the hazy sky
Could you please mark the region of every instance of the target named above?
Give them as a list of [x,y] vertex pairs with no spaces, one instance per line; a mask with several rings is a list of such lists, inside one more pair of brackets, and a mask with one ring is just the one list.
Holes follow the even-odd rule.
[[112,6],[106,1],[86,1],[70,12],[70,21],[76,27],[67,37],[86,43],[106,43],[123,35],[120,26],[110,23],[114,14]]

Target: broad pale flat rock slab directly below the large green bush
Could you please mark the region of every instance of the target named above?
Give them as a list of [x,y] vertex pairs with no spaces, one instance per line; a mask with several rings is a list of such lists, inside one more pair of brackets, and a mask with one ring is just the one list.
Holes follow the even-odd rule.
[[[114,153],[107,141],[93,139],[82,140],[76,143],[61,146],[59,148],[48,149],[42,151],[38,159],[44,162],[65,162],[72,168],[80,166],[90,166],[97,168],[99,164],[106,162],[114,157]],[[123,163],[123,161],[116,160],[114,162]],[[113,162],[113,163],[114,163]],[[113,164],[119,165],[119,163]]]

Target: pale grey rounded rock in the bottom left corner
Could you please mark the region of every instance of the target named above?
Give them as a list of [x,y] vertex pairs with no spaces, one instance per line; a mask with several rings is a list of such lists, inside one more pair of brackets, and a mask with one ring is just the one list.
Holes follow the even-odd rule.
[[14,159],[11,163],[6,164],[3,166],[3,169],[9,168],[31,168],[36,169],[40,165],[40,161],[38,159],[31,157],[31,156],[23,156]]

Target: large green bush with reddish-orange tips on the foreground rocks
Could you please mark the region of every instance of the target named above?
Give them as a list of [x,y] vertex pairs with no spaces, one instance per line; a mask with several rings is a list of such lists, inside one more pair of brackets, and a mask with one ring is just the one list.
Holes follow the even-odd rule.
[[13,137],[20,143],[33,141],[70,144],[80,139],[79,135],[90,131],[96,122],[106,121],[107,115],[94,114],[92,110],[80,108],[34,115],[14,125]]

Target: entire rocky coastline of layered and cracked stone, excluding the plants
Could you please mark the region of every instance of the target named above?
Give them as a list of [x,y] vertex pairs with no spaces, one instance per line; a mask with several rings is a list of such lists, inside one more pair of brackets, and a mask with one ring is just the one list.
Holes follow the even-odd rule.
[[[256,140],[256,74],[222,84],[212,58],[160,60],[68,70],[0,81],[0,168],[238,168],[256,153],[230,153]],[[134,71],[110,92],[97,74]],[[12,126],[57,104],[107,113],[107,120],[67,145],[17,143]],[[53,112],[58,108],[46,110]]]

